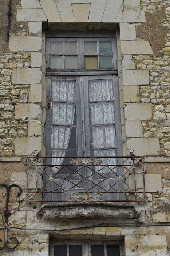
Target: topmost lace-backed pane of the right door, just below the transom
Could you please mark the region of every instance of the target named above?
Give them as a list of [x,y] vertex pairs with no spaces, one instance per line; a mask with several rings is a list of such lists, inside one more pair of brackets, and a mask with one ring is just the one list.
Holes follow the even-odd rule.
[[112,80],[89,80],[89,101],[113,100]]

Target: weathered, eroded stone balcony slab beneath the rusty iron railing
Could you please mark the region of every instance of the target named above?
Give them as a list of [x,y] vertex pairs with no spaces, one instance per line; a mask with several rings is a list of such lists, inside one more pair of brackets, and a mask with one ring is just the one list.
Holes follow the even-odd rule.
[[42,219],[136,219],[133,205],[103,202],[72,202],[44,204],[37,212]]

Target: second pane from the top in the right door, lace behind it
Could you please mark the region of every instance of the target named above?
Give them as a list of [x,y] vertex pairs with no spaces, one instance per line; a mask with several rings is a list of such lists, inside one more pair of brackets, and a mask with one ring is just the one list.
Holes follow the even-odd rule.
[[90,124],[113,124],[113,102],[90,103]]

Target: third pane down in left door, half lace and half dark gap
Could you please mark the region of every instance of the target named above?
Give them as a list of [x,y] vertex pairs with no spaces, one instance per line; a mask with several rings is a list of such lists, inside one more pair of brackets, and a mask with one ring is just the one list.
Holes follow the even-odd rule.
[[76,149],[76,127],[52,127],[52,148]]

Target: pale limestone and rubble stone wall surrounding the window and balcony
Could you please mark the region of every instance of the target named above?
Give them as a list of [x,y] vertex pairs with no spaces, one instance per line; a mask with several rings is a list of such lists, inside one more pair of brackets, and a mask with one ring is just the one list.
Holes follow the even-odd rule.
[[[47,256],[49,237],[123,239],[127,256],[169,255],[169,227],[150,225],[170,222],[169,0],[13,0],[9,42],[5,41],[8,3],[0,3],[4,8],[0,34],[0,184],[17,184],[23,189],[20,197],[13,189],[9,198],[8,225],[22,229],[8,229],[8,236],[16,236],[19,246],[13,251],[5,248],[0,255]],[[135,155],[145,157],[146,202],[131,203],[137,213],[134,222],[150,226],[115,227],[132,221],[122,220],[121,214],[116,220],[108,217],[103,221],[101,215],[90,220],[49,221],[39,214],[41,202],[27,202],[26,157],[45,155],[44,30],[56,29],[117,30],[123,155],[133,149]],[[35,177],[31,179],[33,184]],[[4,188],[0,193],[3,212]],[[99,225],[101,221],[113,226],[59,231]],[[48,229],[53,231],[44,231]],[[4,229],[0,229],[0,246],[3,236]]]

